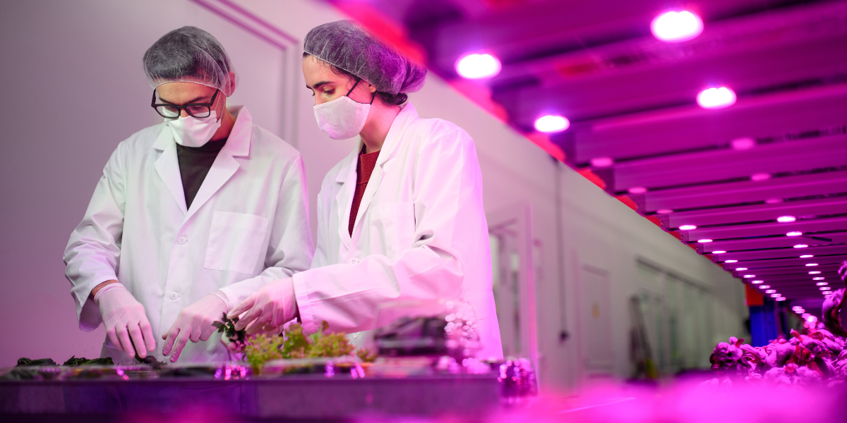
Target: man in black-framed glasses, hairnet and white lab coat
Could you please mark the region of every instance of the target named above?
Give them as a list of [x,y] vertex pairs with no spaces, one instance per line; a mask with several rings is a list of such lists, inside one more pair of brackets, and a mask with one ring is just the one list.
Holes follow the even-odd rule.
[[170,31],[143,63],[164,122],[119,144],[71,234],[80,329],[102,322],[115,363],[227,360],[212,322],[311,265],[303,163],[246,107],[227,107],[237,75],[208,32]]

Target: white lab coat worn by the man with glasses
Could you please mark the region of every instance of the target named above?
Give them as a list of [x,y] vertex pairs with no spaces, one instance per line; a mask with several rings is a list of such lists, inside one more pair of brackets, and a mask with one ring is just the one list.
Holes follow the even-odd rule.
[[[220,289],[235,306],[275,279],[306,270],[313,244],[300,153],[237,113],[191,208],[170,129],[158,124],[121,142],[65,249],[65,274],[80,329],[102,319],[91,289],[123,283],[144,305],[163,360],[160,338],[187,305]],[[106,339],[103,357],[135,362]],[[189,342],[180,362],[227,360],[220,338]]]

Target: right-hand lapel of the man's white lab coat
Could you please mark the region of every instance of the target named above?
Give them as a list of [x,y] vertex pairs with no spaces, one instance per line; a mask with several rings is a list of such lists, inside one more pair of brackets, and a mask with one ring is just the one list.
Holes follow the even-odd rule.
[[232,178],[232,175],[235,174],[240,166],[238,161],[235,160],[235,157],[246,157],[250,155],[250,138],[252,136],[253,126],[252,117],[247,112],[246,107],[243,106],[231,107],[230,112],[233,114],[237,113],[235,125],[233,125],[232,131],[230,131],[230,137],[226,140],[224,149],[218,153],[218,157],[212,163],[212,168],[209,168],[206,179],[203,179],[203,183],[200,185],[200,190],[197,191],[194,201],[191,201],[191,209],[188,210],[185,220],[191,218],[200,207],[212,198],[212,195],[226,184],[226,181]]

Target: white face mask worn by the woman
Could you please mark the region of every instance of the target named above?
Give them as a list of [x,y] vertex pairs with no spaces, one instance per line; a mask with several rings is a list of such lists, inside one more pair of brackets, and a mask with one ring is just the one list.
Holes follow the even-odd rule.
[[[353,85],[353,88],[356,88],[356,85]],[[365,121],[368,120],[370,104],[360,103],[350,98],[353,88],[347,92],[346,96],[314,106],[318,127],[333,140],[346,140],[356,136],[362,132]],[[376,93],[374,93],[375,96]],[[373,99],[371,102],[374,102]]]

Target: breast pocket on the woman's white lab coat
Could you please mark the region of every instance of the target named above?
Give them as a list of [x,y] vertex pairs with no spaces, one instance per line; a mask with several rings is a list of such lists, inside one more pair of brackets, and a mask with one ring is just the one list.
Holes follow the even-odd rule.
[[414,203],[390,203],[374,207],[370,213],[372,252],[390,258],[412,248],[415,236]]

